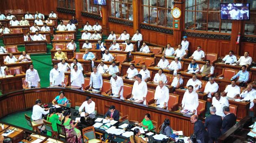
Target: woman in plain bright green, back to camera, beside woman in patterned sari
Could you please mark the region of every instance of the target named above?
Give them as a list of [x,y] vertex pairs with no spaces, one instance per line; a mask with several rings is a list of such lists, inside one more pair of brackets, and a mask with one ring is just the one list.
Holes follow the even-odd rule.
[[[57,132],[57,123],[61,124],[60,120],[62,118],[62,115],[60,114],[59,117],[59,113],[56,113],[56,108],[50,108],[49,109],[49,114],[47,116],[47,121],[52,123],[52,130]],[[52,132],[47,130],[47,135],[48,136],[52,136]]]

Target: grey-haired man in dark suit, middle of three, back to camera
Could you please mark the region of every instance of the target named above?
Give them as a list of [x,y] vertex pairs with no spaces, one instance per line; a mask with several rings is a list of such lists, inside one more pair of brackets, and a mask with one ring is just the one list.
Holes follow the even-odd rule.
[[215,114],[216,108],[214,106],[210,107],[210,116],[205,119],[204,127],[207,128],[209,142],[217,143],[218,137],[221,136],[221,124],[222,118]]

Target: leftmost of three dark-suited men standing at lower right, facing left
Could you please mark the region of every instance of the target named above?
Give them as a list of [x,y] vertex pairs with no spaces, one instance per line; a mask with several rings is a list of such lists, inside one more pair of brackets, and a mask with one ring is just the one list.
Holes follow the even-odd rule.
[[200,140],[202,143],[208,143],[208,132],[204,128],[204,124],[201,120],[198,120],[196,115],[190,117],[190,122],[194,123],[194,135],[197,140]]

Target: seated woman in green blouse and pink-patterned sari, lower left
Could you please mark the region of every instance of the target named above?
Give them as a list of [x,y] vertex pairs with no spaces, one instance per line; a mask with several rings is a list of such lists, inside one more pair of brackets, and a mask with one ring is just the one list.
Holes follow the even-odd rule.
[[76,124],[74,124],[74,120],[71,120],[69,117],[71,116],[71,111],[65,110],[63,113],[64,119],[62,120],[62,124],[65,126],[67,137],[70,137],[67,139],[68,142],[76,143],[76,137],[78,139],[78,143],[82,143],[82,136],[81,131],[76,128],[78,121],[76,121]]

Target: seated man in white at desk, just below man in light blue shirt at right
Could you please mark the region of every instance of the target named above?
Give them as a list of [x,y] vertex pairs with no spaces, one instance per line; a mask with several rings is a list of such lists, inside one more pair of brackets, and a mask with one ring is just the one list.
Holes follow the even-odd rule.
[[221,96],[225,96],[231,98],[238,98],[240,95],[240,87],[236,85],[236,80],[231,80],[231,84],[228,85],[225,90],[221,93]]

